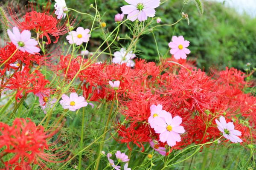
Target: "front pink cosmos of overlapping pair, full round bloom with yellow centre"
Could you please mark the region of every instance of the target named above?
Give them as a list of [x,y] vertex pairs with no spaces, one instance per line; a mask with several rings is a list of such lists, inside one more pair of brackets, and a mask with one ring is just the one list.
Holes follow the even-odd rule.
[[180,133],[185,133],[184,127],[180,126],[182,119],[180,116],[165,114],[164,119],[157,119],[157,126],[154,128],[156,133],[160,133],[160,141],[167,142],[171,147],[175,146],[176,142],[180,142]]

